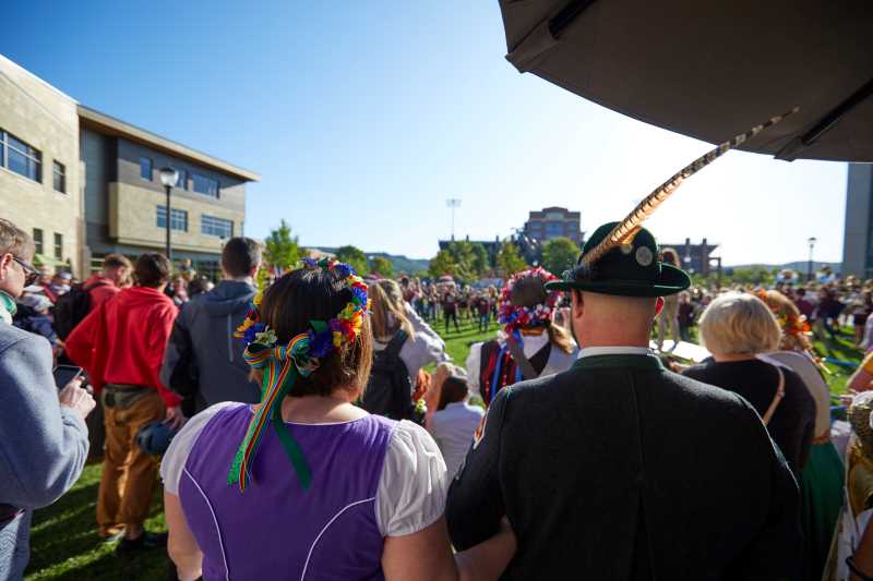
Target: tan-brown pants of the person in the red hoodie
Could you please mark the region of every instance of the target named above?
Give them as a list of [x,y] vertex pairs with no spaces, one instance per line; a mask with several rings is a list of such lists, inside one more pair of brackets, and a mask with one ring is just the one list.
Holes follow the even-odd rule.
[[97,497],[97,524],[106,531],[120,524],[142,525],[148,516],[157,480],[158,459],[136,445],[136,433],[166,415],[157,391],[127,409],[105,407],[106,455]]

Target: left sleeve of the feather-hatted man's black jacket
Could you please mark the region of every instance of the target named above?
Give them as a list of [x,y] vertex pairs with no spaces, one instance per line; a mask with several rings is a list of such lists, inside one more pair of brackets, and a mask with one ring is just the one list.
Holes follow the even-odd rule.
[[503,423],[511,388],[502,389],[491,402],[481,432],[467,452],[464,465],[449,488],[445,518],[457,550],[490,538],[506,513],[500,485]]

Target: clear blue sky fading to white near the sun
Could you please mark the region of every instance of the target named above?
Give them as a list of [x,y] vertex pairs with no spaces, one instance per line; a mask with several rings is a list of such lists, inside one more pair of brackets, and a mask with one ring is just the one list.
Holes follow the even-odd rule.
[[[518,74],[495,0],[10,2],[0,53],[80,102],[263,174],[247,234],[431,257],[529,210],[623,217],[708,144]],[[754,120],[758,122],[763,120]],[[726,135],[726,138],[730,137]],[[845,164],[729,153],[650,220],[726,264],[840,261]]]

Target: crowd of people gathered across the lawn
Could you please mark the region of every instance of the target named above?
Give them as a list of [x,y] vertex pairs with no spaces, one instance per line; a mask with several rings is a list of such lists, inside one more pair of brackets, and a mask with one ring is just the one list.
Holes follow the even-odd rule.
[[[159,253],[79,282],[0,220],[0,579],[88,455],[98,534],[184,581],[870,578],[873,355],[846,443],[810,338],[871,344],[873,283],[694,288],[647,230],[630,246],[500,291],[330,258],[259,289],[246,238],[214,286]],[[458,319],[499,325],[464,362],[431,327]]]

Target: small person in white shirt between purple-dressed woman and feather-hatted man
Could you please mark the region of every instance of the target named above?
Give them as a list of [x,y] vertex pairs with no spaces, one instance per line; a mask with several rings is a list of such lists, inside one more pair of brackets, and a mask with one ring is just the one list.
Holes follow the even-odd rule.
[[485,410],[470,404],[467,374],[451,363],[436,366],[428,396],[435,407],[428,407],[426,426],[440,447],[451,480],[464,463]]

